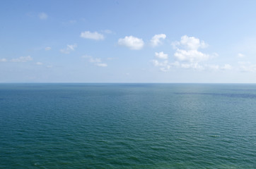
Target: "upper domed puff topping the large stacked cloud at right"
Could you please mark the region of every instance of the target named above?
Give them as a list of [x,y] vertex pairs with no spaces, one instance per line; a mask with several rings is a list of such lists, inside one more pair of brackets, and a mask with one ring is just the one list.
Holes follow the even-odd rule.
[[187,50],[203,49],[208,46],[204,41],[200,41],[196,37],[188,37],[187,35],[182,36],[180,42],[173,42],[172,45],[175,49],[178,48],[177,46],[182,46]]

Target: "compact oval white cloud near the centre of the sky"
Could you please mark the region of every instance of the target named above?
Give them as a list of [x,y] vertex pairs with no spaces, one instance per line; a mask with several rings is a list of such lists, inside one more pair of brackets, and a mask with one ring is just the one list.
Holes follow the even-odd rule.
[[118,39],[118,44],[122,46],[127,46],[129,49],[132,50],[139,50],[142,49],[144,46],[144,41],[137,37],[129,36],[124,37],[123,39]]

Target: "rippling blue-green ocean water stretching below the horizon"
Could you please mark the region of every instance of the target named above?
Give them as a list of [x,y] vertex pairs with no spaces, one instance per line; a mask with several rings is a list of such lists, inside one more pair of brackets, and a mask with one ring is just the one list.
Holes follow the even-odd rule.
[[0,84],[0,168],[256,168],[256,84]]

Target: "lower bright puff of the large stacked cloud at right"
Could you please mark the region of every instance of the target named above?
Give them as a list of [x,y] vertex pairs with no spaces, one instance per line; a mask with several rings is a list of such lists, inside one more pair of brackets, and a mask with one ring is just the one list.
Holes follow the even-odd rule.
[[186,51],[182,49],[177,49],[174,56],[179,61],[187,61],[192,63],[206,61],[209,59],[208,54],[203,54],[201,51],[197,51],[197,50]]

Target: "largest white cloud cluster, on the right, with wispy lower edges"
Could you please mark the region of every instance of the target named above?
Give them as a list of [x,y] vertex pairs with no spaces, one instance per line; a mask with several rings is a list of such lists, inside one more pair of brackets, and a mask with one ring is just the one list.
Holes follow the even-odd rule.
[[[196,37],[188,37],[184,35],[181,37],[179,42],[172,43],[175,53],[173,58],[175,61],[168,61],[168,54],[164,54],[163,51],[155,53],[157,59],[152,60],[153,65],[159,67],[163,72],[170,70],[170,68],[184,68],[184,69],[196,69],[196,70],[231,70],[232,66],[225,64],[212,65],[212,64],[203,64],[204,61],[208,61],[209,58],[218,56],[218,54],[204,54],[199,49],[204,49],[208,45]],[[163,61],[164,60],[164,61]]]

